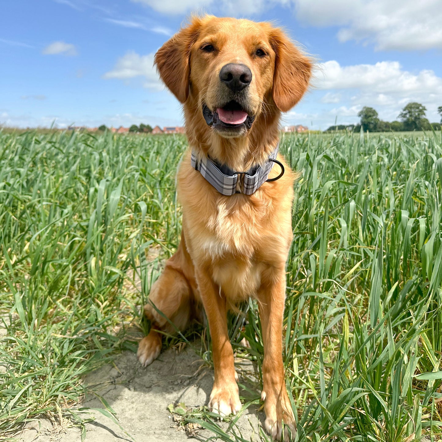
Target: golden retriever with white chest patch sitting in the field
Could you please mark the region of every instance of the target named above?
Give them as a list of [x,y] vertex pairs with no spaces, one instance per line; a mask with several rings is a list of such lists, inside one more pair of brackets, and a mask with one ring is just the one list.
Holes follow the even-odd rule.
[[[160,331],[183,330],[203,307],[214,365],[209,407],[235,414],[241,402],[226,312],[255,297],[264,344],[264,425],[280,438],[282,422],[292,429],[295,422],[282,362],[295,176],[276,149],[281,113],[308,88],[312,62],[269,23],[205,16],[164,43],[155,64],[183,104],[189,149],[177,175],[181,242],[149,294],[145,315],[152,329],[139,343],[138,359],[150,364],[161,351]],[[209,160],[233,175],[233,184],[208,176]],[[260,167],[266,180],[257,188],[245,183]],[[230,186],[227,194],[223,186]]]

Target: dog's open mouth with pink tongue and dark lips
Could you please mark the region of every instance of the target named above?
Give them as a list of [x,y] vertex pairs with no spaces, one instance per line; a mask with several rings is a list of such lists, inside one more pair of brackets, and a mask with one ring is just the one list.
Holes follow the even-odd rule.
[[217,107],[212,112],[206,104],[202,105],[202,114],[209,126],[216,129],[236,129],[245,127],[250,129],[254,115],[249,115],[246,110],[241,107],[240,103],[232,100],[223,107]]

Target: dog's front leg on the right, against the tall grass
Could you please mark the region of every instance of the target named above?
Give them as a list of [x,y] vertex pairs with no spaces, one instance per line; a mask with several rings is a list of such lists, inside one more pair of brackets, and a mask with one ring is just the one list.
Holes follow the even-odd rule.
[[284,267],[264,272],[258,291],[259,316],[264,341],[263,391],[265,427],[273,438],[280,439],[282,420],[294,431],[294,415],[287,396],[282,363],[282,318],[286,297]]

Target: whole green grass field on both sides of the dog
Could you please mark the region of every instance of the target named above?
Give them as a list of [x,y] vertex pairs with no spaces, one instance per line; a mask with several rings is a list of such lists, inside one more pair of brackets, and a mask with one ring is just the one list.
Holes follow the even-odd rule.
[[[179,240],[186,147],[184,137],[0,132],[0,438],[42,415],[81,425],[82,376],[136,348],[129,325],[148,327],[140,306]],[[290,135],[281,150],[303,172],[283,337],[295,440],[438,440],[440,132]],[[229,324],[259,379],[255,307]],[[240,395],[259,403],[255,390]],[[106,403],[102,412],[112,418]],[[235,419],[225,433],[203,408],[185,421],[244,440]]]

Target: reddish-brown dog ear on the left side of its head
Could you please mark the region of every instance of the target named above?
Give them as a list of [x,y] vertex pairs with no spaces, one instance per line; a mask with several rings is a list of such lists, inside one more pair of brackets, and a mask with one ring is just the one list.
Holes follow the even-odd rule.
[[201,19],[195,17],[155,54],[156,70],[173,95],[184,103],[189,95],[191,46],[198,38]]

